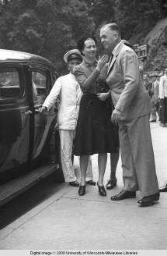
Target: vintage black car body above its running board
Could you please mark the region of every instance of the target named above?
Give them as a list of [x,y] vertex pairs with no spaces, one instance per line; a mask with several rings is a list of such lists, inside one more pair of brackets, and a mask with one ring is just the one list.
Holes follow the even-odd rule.
[[57,109],[39,108],[54,84],[53,64],[38,55],[0,50],[0,183],[60,162]]

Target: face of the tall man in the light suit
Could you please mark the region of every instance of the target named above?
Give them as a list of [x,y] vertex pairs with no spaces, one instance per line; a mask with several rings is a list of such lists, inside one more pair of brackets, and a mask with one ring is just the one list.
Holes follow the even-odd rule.
[[105,26],[100,30],[100,39],[106,52],[111,53],[117,45],[118,34],[116,31],[110,30],[110,27]]

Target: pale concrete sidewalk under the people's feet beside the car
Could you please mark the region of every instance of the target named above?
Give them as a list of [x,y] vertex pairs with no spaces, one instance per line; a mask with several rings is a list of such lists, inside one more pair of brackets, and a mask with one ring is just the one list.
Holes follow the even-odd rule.
[[[167,128],[151,123],[159,186],[167,180]],[[97,155],[92,157],[97,180]],[[107,162],[105,183],[110,176]],[[0,249],[7,250],[146,250],[167,249],[167,193],[154,206],[141,208],[137,198],[110,201],[123,186],[121,162],[117,187],[100,197],[97,187],[63,183],[57,192],[0,231]]]

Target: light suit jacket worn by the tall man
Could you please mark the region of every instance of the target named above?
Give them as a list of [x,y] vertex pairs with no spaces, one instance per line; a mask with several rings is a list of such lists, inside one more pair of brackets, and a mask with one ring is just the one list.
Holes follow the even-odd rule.
[[137,55],[121,42],[108,66],[106,82],[113,105],[121,120],[135,119],[150,113],[150,99],[139,74]]

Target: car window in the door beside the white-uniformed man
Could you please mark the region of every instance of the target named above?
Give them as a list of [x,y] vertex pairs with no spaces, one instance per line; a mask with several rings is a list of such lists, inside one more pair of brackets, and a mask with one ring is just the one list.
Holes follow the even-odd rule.
[[34,94],[45,94],[47,90],[47,74],[39,71],[32,72],[32,84]]

